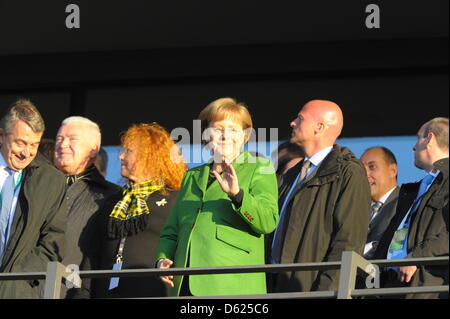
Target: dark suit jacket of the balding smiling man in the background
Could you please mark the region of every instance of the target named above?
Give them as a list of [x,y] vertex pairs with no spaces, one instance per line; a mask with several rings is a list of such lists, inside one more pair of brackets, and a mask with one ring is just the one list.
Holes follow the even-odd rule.
[[[398,194],[400,193],[400,187],[396,187],[389,197],[381,206],[381,210],[369,223],[369,233],[367,235],[367,243],[381,240],[384,232],[391,223],[392,217],[395,215],[397,209]],[[369,251],[366,258],[371,258],[374,254],[375,249]]]

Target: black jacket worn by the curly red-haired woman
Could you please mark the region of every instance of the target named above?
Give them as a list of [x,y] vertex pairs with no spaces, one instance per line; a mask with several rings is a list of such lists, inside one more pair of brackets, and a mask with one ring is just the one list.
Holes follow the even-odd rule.
[[[122,269],[154,268],[156,248],[160,232],[166,223],[178,192],[169,192],[167,196],[159,192],[147,198],[150,209],[146,229],[126,238]],[[166,199],[167,204],[158,206],[157,202]],[[107,233],[109,215],[116,203],[122,199],[122,192],[112,195],[100,209],[95,220],[95,239],[92,251],[83,259],[81,270],[112,270],[120,239],[110,239]],[[159,277],[121,278],[119,286],[109,290],[110,278],[83,279],[82,289],[72,289],[68,298],[139,298],[163,297],[166,288]]]

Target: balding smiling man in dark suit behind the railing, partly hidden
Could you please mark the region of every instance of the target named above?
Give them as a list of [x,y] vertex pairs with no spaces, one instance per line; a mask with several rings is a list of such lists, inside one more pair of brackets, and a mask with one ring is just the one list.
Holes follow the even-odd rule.
[[364,257],[371,259],[397,209],[398,168],[395,155],[382,146],[364,151],[361,162],[366,168],[372,197],[369,233],[364,247]]

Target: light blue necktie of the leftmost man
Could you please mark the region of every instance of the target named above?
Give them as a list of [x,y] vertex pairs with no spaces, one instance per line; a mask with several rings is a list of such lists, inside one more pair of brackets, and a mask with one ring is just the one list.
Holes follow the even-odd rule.
[[3,258],[3,251],[8,242],[8,228],[9,216],[11,214],[11,207],[14,199],[14,171],[10,168],[5,168],[8,172],[8,177],[2,187],[2,201],[0,210],[0,264]]

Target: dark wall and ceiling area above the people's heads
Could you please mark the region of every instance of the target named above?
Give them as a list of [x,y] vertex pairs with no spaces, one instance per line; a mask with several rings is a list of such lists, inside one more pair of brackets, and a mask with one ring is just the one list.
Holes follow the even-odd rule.
[[[68,4],[81,28],[67,29]],[[381,28],[367,29],[368,4]],[[255,127],[337,102],[343,137],[414,135],[448,117],[448,0],[0,0],[0,111],[31,99],[54,137],[69,115],[105,145],[132,123],[192,128],[212,100],[246,103]]]

